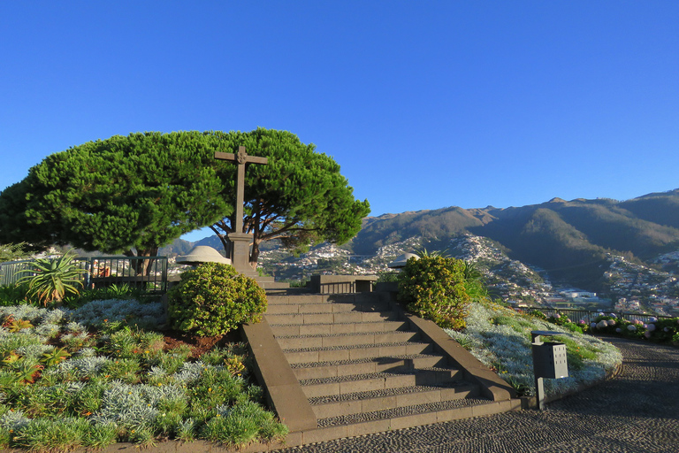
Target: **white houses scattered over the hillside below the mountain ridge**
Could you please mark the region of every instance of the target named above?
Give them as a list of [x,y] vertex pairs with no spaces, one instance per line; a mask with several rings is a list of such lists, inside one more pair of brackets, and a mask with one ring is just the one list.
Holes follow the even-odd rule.
[[[370,256],[353,255],[348,248],[329,244],[291,257],[279,250],[263,251],[260,263],[279,280],[308,279],[315,273],[393,273],[387,264],[402,253],[422,249],[422,237],[380,247]],[[447,253],[475,263],[484,273],[492,296],[524,307],[576,307],[588,310],[652,311],[658,315],[679,311],[679,285],[674,273],[632,263],[624,257],[607,255],[605,294],[582,288],[553,288],[545,272],[507,257],[494,242],[482,236],[462,234],[449,242]],[[676,255],[676,257],[675,257]],[[679,252],[663,256],[672,265]]]

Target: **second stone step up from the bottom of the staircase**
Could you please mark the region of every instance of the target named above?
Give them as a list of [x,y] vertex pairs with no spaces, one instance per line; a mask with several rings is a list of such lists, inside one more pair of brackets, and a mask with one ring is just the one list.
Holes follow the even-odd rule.
[[446,386],[385,388],[347,395],[309,398],[317,418],[333,418],[361,412],[385,411],[417,404],[439,403],[478,395],[477,386],[454,382]]

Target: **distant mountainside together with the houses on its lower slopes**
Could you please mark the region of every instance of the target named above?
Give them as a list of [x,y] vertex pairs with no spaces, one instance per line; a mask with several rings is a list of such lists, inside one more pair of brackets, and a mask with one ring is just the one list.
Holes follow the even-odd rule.
[[[213,236],[195,243],[178,240],[162,251],[181,254],[198,244],[221,248]],[[640,299],[649,306],[664,300],[671,305],[679,297],[672,280],[679,271],[679,189],[627,201],[553,198],[506,209],[449,207],[385,214],[365,219],[361,232],[339,248],[324,244],[292,257],[272,244],[260,263],[279,279],[331,271],[380,273],[393,257],[416,248],[448,250],[482,263],[473,250],[501,255],[500,261],[530,270],[515,280],[546,279],[613,301]],[[491,280],[500,271],[498,263],[484,265]],[[539,297],[540,291],[531,291]]]

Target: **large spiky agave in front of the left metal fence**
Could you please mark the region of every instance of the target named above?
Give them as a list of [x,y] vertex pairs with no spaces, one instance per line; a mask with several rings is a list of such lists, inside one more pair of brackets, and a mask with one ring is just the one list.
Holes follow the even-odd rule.
[[73,261],[73,257],[75,254],[69,250],[56,259],[38,258],[32,263],[32,269],[19,271],[30,275],[21,277],[18,283],[27,282],[27,296],[36,296],[44,305],[61,302],[67,292],[77,295],[77,287],[82,286],[80,278],[85,271]]

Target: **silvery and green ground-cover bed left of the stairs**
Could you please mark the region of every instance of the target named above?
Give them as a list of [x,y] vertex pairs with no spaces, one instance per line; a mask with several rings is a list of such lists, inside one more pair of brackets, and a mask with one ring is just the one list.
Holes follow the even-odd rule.
[[163,318],[160,303],[134,300],[0,307],[0,449],[286,435],[248,380],[242,344],[192,359],[186,344],[165,350]]

